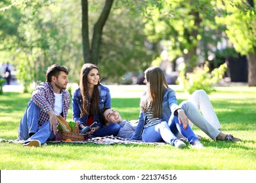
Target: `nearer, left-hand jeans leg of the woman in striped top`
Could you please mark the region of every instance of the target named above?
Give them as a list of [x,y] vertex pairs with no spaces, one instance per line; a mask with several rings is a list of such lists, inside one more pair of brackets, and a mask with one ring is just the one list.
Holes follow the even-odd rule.
[[167,122],[161,122],[160,124],[146,127],[142,133],[142,141],[144,142],[162,142],[165,141],[168,144],[174,146],[174,142],[177,137],[171,132]]

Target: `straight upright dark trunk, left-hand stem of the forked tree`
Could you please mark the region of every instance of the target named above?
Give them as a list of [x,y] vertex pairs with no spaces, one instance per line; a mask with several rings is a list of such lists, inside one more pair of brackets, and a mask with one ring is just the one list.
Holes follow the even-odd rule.
[[90,41],[89,41],[89,19],[88,1],[81,0],[82,5],[82,42],[83,42],[83,62],[90,63]]

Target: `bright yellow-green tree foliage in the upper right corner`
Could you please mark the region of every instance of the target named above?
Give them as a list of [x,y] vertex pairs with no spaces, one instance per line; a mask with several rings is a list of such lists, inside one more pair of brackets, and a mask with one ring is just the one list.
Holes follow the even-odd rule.
[[[163,6],[154,8],[153,18],[146,22],[146,31],[152,41],[166,40],[164,45],[169,48],[171,60],[183,54],[186,71],[191,71],[194,61],[198,60],[196,48],[207,48],[207,45],[209,48],[217,47],[209,42],[219,41],[226,30],[236,51],[248,55],[248,84],[255,86],[255,0],[161,2]],[[203,49],[205,60],[209,51]]]

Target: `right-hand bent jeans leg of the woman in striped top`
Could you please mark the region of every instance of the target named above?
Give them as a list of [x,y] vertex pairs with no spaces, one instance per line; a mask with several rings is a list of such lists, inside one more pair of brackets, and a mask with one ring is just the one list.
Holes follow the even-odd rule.
[[177,116],[171,115],[168,125],[176,137],[181,133],[181,135],[183,135],[190,144],[193,144],[194,141],[198,141],[198,138],[194,131],[192,131],[192,128],[188,125],[186,129],[184,129],[182,123],[181,125],[179,124],[179,118]]

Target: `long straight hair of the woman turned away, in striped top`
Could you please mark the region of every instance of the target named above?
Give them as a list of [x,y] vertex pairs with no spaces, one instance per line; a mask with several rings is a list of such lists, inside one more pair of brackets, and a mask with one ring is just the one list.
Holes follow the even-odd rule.
[[153,118],[161,117],[161,105],[163,102],[163,91],[169,88],[163,70],[160,67],[149,67],[144,72],[147,81],[147,90],[140,101],[142,111],[151,108]]

